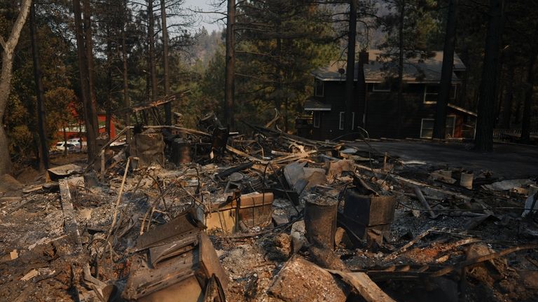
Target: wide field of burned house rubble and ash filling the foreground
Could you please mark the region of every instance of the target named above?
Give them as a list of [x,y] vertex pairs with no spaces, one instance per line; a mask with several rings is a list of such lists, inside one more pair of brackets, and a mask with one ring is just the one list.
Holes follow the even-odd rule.
[[[536,175],[474,171],[469,182],[464,167],[404,163],[368,141],[249,128],[229,133],[214,118],[198,130],[126,128],[102,147],[97,174],[71,164],[26,186],[2,181],[0,295],[186,302],[538,296]],[[131,141],[111,147],[127,131]]]

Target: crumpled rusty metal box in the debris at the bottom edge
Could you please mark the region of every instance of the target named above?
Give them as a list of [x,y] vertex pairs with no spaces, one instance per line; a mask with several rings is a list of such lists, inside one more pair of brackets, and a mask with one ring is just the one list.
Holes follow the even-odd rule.
[[[181,301],[198,302],[209,284],[214,286],[215,278],[226,286],[228,277],[203,228],[191,207],[139,236],[137,248],[149,249],[149,257],[136,256],[123,297],[139,301],[177,301],[181,297]],[[212,301],[224,301],[219,297]]]

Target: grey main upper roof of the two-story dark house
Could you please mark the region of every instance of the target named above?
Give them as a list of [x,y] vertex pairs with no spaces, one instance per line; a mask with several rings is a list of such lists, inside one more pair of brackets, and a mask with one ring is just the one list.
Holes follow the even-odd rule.
[[[366,83],[382,83],[391,72],[390,62],[385,62],[380,57],[381,50],[368,50],[368,64],[364,64],[364,79]],[[441,81],[441,67],[443,65],[443,52],[434,52],[433,57],[424,60],[420,58],[406,59],[403,66],[403,80],[408,83],[439,83]],[[345,69],[344,61],[331,62],[328,67],[314,71],[314,76],[321,81],[345,81],[344,73],[338,69]],[[359,63],[355,63],[354,78],[357,81]],[[454,54],[454,71],[464,71],[465,65],[457,54]],[[340,70],[343,71],[343,70]],[[453,81],[461,81],[453,74]]]

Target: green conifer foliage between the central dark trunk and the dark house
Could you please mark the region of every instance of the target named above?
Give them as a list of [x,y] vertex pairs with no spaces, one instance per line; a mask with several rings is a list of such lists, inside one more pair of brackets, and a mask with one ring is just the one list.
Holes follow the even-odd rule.
[[[324,11],[311,1],[249,1],[237,19],[238,120],[261,121],[279,109],[284,130],[311,94],[310,71],[334,54],[333,30]],[[242,112],[241,112],[242,111]]]

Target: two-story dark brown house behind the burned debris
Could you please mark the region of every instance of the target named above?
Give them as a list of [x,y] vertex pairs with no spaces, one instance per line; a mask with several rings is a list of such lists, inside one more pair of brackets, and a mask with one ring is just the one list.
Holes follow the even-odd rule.
[[[425,60],[410,59],[403,69],[403,102],[398,104],[394,73],[379,60],[380,50],[359,54],[354,70],[355,102],[353,129],[368,131],[370,137],[431,138],[436,100],[441,81],[443,52]],[[298,118],[298,135],[313,139],[334,139],[345,135],[345,62],[335,62],[313,73],[315,93],[305,101],[305,116]],[[465,66],[454,56],[453,88],[446,119],[446,136],[473,138],[476,114],[460,104]]]

